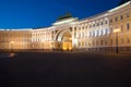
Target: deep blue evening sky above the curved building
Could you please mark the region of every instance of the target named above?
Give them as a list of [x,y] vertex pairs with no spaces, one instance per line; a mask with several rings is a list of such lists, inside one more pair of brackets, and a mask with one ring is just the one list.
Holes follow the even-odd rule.
[[50,26],[70,12],[85,18],[117,7],[120,0],[0,0],[0,28]]

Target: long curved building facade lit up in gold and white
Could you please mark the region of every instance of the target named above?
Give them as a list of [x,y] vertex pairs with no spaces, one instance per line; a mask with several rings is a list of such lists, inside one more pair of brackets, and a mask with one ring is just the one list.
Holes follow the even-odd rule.
[[0,50],[131,52],[131,1],[84,20],[63,17],[46,28],[1,29]]

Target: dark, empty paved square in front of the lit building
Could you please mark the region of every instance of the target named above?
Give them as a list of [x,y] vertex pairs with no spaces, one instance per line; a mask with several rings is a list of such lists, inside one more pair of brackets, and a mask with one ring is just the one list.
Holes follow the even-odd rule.
[[34,52],[0,59],[0,87],[130,87],[130,80],[127,54]]

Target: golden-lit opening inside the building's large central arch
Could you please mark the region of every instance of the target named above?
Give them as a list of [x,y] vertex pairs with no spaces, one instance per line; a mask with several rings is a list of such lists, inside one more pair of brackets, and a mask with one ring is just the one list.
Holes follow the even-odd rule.
[[72,36],[69,32],[62,35],[62,50],[71,51],[72,50]]

